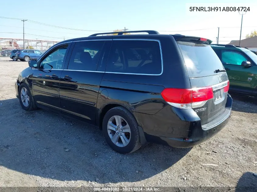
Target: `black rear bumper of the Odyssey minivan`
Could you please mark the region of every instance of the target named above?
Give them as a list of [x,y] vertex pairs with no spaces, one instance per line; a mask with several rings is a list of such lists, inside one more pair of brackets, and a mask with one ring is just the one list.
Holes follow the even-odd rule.
[[166,106],[151,118],[141,121],[139,125],[142,126],[144,136],[149,143],[178,148],[193,147],[224,128],[230,119],[231,107],[232,98],[228,94],[224,113],[202,125],[200,118],[193,110]]

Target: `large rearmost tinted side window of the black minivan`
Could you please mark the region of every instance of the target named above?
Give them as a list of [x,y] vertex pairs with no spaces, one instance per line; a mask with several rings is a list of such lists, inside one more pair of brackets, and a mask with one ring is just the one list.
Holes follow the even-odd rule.
[[158,41],[113,40],[106,72],[160,74],[161,71]]

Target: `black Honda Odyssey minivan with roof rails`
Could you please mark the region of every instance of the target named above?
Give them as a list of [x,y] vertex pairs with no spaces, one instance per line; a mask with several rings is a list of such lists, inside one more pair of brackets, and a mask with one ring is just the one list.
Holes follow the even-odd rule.
[[146,143],[192,147],[220,131],[232,99],[211,41],[136,32],[148,34],[100,33],[53,45],[19,74],[22,108],[96,125],[119,153]]

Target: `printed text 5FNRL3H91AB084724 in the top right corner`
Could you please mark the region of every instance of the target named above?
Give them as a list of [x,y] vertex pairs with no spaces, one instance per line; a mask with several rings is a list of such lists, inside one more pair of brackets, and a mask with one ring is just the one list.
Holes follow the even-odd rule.
[[250,7],[189,7],[191,12],[241,12],[250,11]]

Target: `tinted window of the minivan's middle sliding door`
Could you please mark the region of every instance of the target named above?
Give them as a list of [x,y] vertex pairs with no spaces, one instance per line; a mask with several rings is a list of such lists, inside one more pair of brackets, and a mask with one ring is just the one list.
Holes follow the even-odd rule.
[[68,69],[96,71],[104,41],[76,42],[71,52]]

